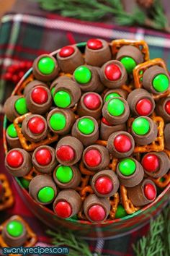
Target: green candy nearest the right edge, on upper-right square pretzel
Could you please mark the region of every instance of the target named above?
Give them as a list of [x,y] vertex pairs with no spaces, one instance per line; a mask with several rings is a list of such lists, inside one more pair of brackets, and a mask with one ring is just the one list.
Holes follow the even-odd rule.
[[152,84],[157,92],[164,93],[169,88],[169,78],[166,74],[158,74],[154,77]]

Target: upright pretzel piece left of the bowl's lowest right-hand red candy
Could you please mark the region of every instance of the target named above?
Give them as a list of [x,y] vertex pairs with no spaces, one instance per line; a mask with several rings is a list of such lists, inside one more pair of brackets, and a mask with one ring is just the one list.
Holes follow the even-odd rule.
[[122,205],[128,214],[135,213],[137,210],[140,209],[138,207],[135,207],[133,203],[130,201],[127,195],[127,189],[123,185],[120,185],[120,196],[122,200]]

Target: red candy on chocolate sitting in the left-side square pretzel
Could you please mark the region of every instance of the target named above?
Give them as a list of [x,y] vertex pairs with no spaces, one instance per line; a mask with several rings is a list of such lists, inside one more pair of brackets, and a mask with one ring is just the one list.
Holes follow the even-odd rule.
[[45,122],[40,117],[35,116],[28,121],[28,128],[30,129],[30,132],[34,134],[41,134],[45,129]]

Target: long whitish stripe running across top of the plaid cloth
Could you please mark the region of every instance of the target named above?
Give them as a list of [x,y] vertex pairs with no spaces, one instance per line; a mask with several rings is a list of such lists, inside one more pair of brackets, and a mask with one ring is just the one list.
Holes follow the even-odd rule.
[[[31,19],[30,19],[31,17]],[[61,29],[61,30],[69,30],[76,33],[86,33],[86,35],[96,35],[101,36],[105,38],[126,38],[126,39],[138,39],[138,37],[142,37],[143,40],[146,40],[146,42],[151,46],[158,46],[158,47],[167,47],[170,48],[170,39],[166,38],[159,38],[152,35],[143,35],[144,31],[142,28],[140,28],[139,31],[136,33],[130,33],[130,32],[121,32],[119,30],[112,30],[108,28],[102,28],[102,27],[94,27],[92,25],[81,25],[73,23],[73,22],[65,22],[63,20],[50,20],[43,17],[36,17],[32,15],[27,14],[6,14],[4,17],[2,17],[1,22],[9,22],[9,21],[24,21],[30,24],[39,25],[39,26],[46,26],[49,28],[54,29]],[[95,28],[97,28],[95,30]],[[139,32],[139,33],[138,33]]]

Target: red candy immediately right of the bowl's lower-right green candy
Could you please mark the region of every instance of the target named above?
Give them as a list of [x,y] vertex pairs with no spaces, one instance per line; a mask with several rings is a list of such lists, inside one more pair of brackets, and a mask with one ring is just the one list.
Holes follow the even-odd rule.
[[157,155],[148,154],[143,157],[142,166],[146,171],[157,171],[159,168],[159,159]]

